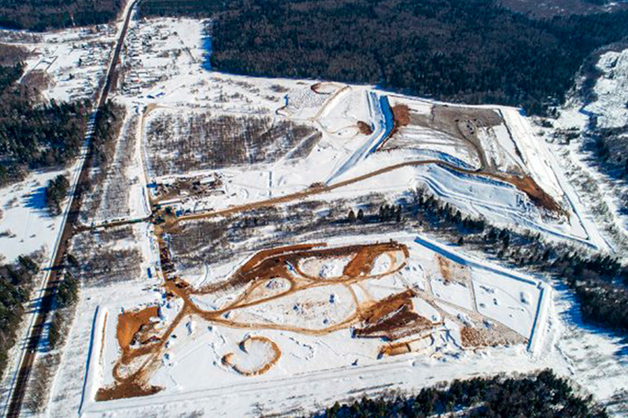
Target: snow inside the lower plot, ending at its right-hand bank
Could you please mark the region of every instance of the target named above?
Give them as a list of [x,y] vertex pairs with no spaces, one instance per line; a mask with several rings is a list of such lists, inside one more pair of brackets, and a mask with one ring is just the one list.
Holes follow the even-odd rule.
[[[378,353],[382,347],[381,341],[352,338],[349,329],[341,329],[322,336],[272,329],[248,331],[208,323],[192,316],[184,319],[175,329],[176,339],[171,337],[172,340],[168,342],[163,362],[154,378],[150,380],[151,384],[164,388],[161,392],[147,398],[95,402],[93,398],[96,390],[111,382],[110,368],[118,356],[119,349],[116,341],[118,313],[122,310],[146,306],[146,304],[157,304],[162,312],[160,316],[167,321],[168,318],[173,318],[180,309],[180,306],[162,299],[154,290],[145,290],[141,295],[137,291],[140,287],[137,284],[134,290],[131,290],[132,286],[128,284],[120,284],[116,286],[115,292],[107,292],[109,296],[100,292],[97,306],[94,300],[81,302],[81,308],[85,308],[80,309],[85,317],[82,326],[88,328],[93,326],[90,338],[76,342],[85,347],[83,360],[89,362],[85,389],[81,394],[73,393],[70,400],[64,398],[63,403],[53,403],[53,410],[61,408],[59,412],[64,410],[69,412],[72,410],[69,407],[76,405],[82,398],[81,412],[84,416],[106,416],[111,413],[124,416],[140,413],[139,411],[150,413],[149,411],[154,410],[158,405],[172,406],[173,404],[179,405],[172,409],[173,413],[174,411],[200,410],[209,415],[256,416],[258,413],[256,404],[260,400],[264,400],[262,403],[266,405],[265,408],[272,406],[271,410],[275,412],[281,412],[279,408],[285,408],[286,404],[291,404],[291,407],[284,409],[284,412],[297,407],[308,410],[326,398],[342,399],[353,390],[364,388],[374,390],[376,387],[382,389],[383,387],[380,387],[382,382],[387,382],[387,385],[391,384],[390,387],[397,387],[400,381],[398,373],[403,373],[405,377],[408,377],[406,373],[416,372],[418,368],[426,366],[430,369],[435,368],[433,375],[419,373],[400,387],[407,389],[420,387],[455,373],[459,373],[458,376],[464,376],[484,372],[483,368],[490,362],[495,363],[491,367],[492,370],[514,370],[512,365],[515,364],[515,358],[521,365],[524,365],[524,369],[538,367],[536,359],[544,355],[544,352],[536,351],[536,347],[543,347],[543,341],[549,332],[547,323],[551,309],[551,291],[547,285],[459,254],[453,248],[447,248],[410,233],[400,233],[393,237],[390,235],[371,236],[368,241],[377,242],[391,238],[409,246],[410,259],[407,260],[407,266],[394,277],[364,282],[359,286],[362,290],[356,287],[356,291],[366,291],[370,297],[382,299],[408,287],[425,286],[428,278],[432,283],[440,281],[441,285],[438,291],[434,291],[434,297],[445,303],[448,315],[452,318],[464,318],[464,323],[469,321],[477,324],[477,318],[473,315],[477,315],[478,311],[473,314],[474,307],[471,302],[475,297],[472,295],[477,294],[478,310],[487,318],[485,320],[511,327],[529,343],[515,344],[509,348],[481,348],[476,353],[468,352],[460,348],[462,343],[459,340],[459,324],[463,322],[456,323],[448,319],[442,325],[443,330],[434,334],[432,343],[421,347],[419,351],[400,357],[378,359]],[[364,238],[342,237],[334,239],[330,245],[355,244],[358,240],[364,240]],[[448,271],[453,271],[454,265],[460,270],[460,274],[455,275],[456,277],[448,275],[447,280],[450,281],[448,284],[444,283],[443,273],[439,270],[437,261],[439,259],[441,263],[444,262],[443,259],[451,263],[451,270]],[[337,263],[337,260],[332,260],[332,269],[334,263]],[[463,283],[459,280],[468,281]],[[141,287],[148,289],[150,283],[150,280],[144,279]],[[471,291],[469,286],[477,290]],[[456,288],[460,288],[459,291],[464,289],[466,301],[465,298],[457,296],[459,291],[456,291]],[[317,292],[322,292],[320,296],[327,308],[317,310],[315,316],[310,319],[308,319],[308,308],[304,307],[303,310],[294,311],[294,315],[286,316],[286,313],[282,314],[285,312],[282,306],[286,305],[287,310],[292,312],[292,305],[295,303],[298,304],[305,299],[315,301],[317,296],[313,294],[306,298],[298,297],[292,302],[286,300],[259,305],[250,313],[238,312],[235,318],[244,319],[248,315],[253,315],[258,321],[266,318],[271,323],[292,321],[293,324],[306,326],[312,320],[316,321],[316,318],[320,321],[324,318],[333,321],[335,315],[340,315],[338,318],[342,318],[347,314],[344,309],[350,308],[351,298],[343,293],[343,291],[346,292],[343,286],[330,284],[327,288],[316,289],[318,289]],[[488,296],[484,296],[481,292],[490,294],[490,301],[487,299]],[[439,296],[440,293],[443,295]],[[121,298],[121,294],[125,294],[125,297]],[[334,297],[330,298],[330,294]],[[419,298],[422,297],[419,294]],[[334,308],[335,306],[342,307],[342,310]],[[430,317],[440,315],[442,318],[441,314],[434,311],[432,305],[415,303],[415,309],[423,315]],[[170,311],[172,312],[169,313]],[[86,323],[87,321],[89,323]],[[320,325],[324,326],[322,322]],[[535,335],[536,333],[538,335]],[[225,354],[234,350],[234,344],[247,336],[268,338],[276,343],[283,353],[268,373],[262,376],[238,374],[221,362]],[[535,351],[531,351],[533,341]],[[506,358],[511,360],[501,361]],[[259,359],[247,361],[255,363]],[[441,375],[440,372],[444,374]],[[288,385],[301,388],[307,383],[322,383],[326,380],[338,382],[339,386],[335,394],[330,393],[328,387],[322,384],[315,384],[311,393],[307,396],[304,394],[298,400],[291,399],[292,391],[281,390]],[[62,384],[58,382],[59,390],[61,386]],[[234,398],[227,398],[227,402],[216,403],[216,396],[227,392]],[[234,404],[235,399],[238,399],[238,405]],[[277,400],[278,403],[273,405],[271,399]]]

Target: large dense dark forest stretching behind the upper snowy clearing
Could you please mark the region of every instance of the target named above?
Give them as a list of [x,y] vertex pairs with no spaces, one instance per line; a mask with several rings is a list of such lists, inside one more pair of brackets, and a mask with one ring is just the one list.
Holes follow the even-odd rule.
[[595,49],[628,36],[628,11],[535,20],[494,0],[146,0],[141,7],[145,15],[221,9],[211,56],[221,71],[375,83],[532,113],[563,100]]

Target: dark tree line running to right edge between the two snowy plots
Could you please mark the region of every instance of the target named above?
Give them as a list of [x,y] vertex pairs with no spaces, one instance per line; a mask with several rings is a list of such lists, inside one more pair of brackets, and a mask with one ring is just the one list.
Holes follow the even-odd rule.
[[471,245],[514,267],[547,274],[566,284],[587,323],[628,335],[628,267],[617,258],[590,253],[540,234],[491,226],[464,216],[455,207],[418,189],[401,204],[403,217],[446,231],[460,245]]

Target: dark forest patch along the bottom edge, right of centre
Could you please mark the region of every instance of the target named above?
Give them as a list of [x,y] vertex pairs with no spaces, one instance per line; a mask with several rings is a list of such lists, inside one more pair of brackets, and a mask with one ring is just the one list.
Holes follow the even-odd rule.
[[336,403],[313,418],[428,416],[602,418],[608,415],[590,397],[575,394],[565,379],[544,370],[520,378],[454,380],[447,388],[422,389],[416,396]]

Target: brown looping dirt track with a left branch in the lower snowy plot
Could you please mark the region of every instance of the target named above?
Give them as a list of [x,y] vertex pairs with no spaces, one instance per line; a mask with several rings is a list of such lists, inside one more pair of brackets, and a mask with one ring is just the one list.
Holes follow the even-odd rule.
[[[160,247],[164,246],[163,239],[159,239]],[[106,401],[120,398],[136,396],[147,396],[156,393],[160,389],[151,386],[148,381],[150,376],[159,368],[161,354],[166,347],[166,343],[174,330],[179,326],[185,317],[196,316],[211,324],[221,325],[239,329],[261,329],[261,330],[282,330],[291,331],[306,335],[325,335],[331,332],[344,329],[352,324],[363,320],[363,313],[368,308],[375,305],[372,301],[360,302],[350,287],[364,280],[379,279],[400,271],[406,265],[409,256],[405,245],[396,242],[376,243],[368,245],[354,245],[340,248],[320,248],[326,244],[304,244],[289,247],[280,247],[272,250],[265,250],[257,253],[238,271],[236,271],[224,283],[218,283],[208,288],[193,289],[186,282],[173,275],[169,277],[164,272],[164,288],[169,297],[176,297],[183,302],[181,310],[176,317],[161,333],[155,334],[150,322],[146,325],[136,327],[136,336],[133,339],[145,341],[139,347],[132,348],[128,342],[128,335],[121,339],[118,331],[117,337],[122,355],[113,367],[112,375],[115,379],[113,386],[99,389],[96,394],[97,401]],[[397,259],[395,254],[400,256]],[[162,258],[167,257],[167,251],[161,251]],[[379,274],[371,272],[375,259],[383,254],[388,254],[397,263],[392,263],[389,269]],[[291,271],[288,265],[298,266],[299,260],[310,257],[327,258],[334,256],[351,256],[351,261],[344,268],[343,273],[335,278],[321,279],[304,275],[300,270]],[[162,260],[167,262],[167,259]],[[255,293],[255,290],[264,286],[273,278],[283,278],[290,282],[290,287],[285,291],[270,296]],[[275,324],[272,322],[255,323],[237,319],[237,311],[260,304],[284,298],[288,295],[317,287],[342,285],[349,290],[353,298],[353,312],[342,318],[337,323],[325,328],[300,327],[288,324]],[[211,293],[220,293],[230,288],[245,287],[245,291],[227,306],[218,310],[201,309],[193,300],[192,296]],[[145,308],[141,311],[128,314],[130,316],[145,316],[148,309],[155,310],[155,307]],[[228,314],[236,313],[236,318],[229,317]],[[227,314],[227,315],[225,315]],[[127,314],[123,314],[127,315]],[[119,319],[120,321],[120,319]],[[118,322],[120,324],[120,322]],[[118,325],[118,330],[120,325]],[[134,328],[135,329],[135,328]],[[133,367],[133,364],[137,367]]]

